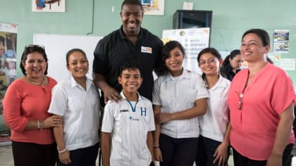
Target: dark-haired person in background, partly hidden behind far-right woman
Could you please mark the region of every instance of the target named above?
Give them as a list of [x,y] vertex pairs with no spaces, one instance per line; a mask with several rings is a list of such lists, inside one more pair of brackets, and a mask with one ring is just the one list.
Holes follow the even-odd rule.
[[233,80],[236,73],[240,71],[240,67],[242,66],[242,55],[240,55],[240,50],[235,49],[230,52],[228,56],[226,56],[225,60],[222,63],[220,72],[223,77],[226,77],[230,81]]

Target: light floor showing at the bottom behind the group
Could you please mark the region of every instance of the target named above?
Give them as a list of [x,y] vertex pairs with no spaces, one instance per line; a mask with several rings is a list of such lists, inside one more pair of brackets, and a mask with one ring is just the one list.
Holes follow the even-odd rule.
[[[99,162],[97,160],[97,165],[99,165],[98,163]],[[233,166],[233,158],[231,155],[228,160],[228,165]],[[0,166],[13,166],[12,151],[11,151],[11,146],[9,145],[9,143],[0,145]],[[296,158],[295,157],[292,160],[292,166],[296,166]]]

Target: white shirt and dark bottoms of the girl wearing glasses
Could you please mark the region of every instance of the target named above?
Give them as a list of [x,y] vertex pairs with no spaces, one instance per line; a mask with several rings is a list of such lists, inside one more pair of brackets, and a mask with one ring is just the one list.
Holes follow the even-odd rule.
[[209,89],[206,114],[199,117],[200,136],[195,159],[197,165],[213,165],[216,148],[224,139],[229,122],[229,87],[230,81],[220,75],[218,82]]

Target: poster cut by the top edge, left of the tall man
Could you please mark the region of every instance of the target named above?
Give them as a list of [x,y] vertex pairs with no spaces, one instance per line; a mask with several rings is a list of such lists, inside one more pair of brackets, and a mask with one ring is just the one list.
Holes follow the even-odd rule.
[[65,12],[66,0],[32,0],[32,11]]

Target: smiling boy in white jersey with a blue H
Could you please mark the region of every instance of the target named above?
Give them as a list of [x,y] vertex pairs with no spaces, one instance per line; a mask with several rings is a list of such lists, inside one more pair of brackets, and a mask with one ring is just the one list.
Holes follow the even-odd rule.
[[104,166],[152,162],[154,115],[151,101],[137,92],[142,80],[137,63],[124,63],[119,69],[123,100],[106,104],[101,127]]

